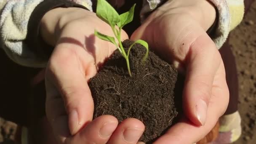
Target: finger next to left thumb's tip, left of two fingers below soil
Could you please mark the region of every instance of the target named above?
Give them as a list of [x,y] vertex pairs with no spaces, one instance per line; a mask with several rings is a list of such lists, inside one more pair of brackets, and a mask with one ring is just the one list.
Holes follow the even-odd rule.
[[106,144],[118,125],[118,120],[111,115],[102,115],[86,125],[66,144]]

